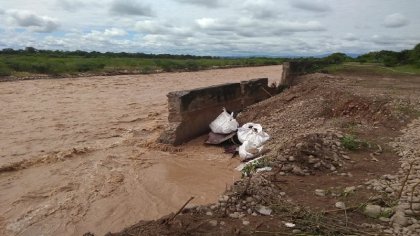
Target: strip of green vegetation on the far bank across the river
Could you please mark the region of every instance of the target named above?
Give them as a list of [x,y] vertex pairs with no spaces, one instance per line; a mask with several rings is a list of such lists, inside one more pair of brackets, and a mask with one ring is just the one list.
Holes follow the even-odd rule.
[[3,49],[0,51],[0,76],[29,74],[52,76],[80,73],[156,73],[197,71],[211,68],[281,64],[273,58],[220,58],[191,55],[154,55],[144,53],[63,52],[50,50]]

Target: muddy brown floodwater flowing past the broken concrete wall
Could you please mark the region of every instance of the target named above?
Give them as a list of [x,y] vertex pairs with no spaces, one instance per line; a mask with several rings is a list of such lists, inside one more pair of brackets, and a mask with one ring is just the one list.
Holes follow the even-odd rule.
[[[0,83],[0,235],[101,235],[207,204],[240,178],[205,137],[155,142],[170,91],[281,78],[281,66]],[[12,170],[12,171],[11,171]]]

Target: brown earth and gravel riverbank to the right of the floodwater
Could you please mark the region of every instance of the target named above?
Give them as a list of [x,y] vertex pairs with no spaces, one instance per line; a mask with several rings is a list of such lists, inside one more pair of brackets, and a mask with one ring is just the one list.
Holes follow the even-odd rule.
[[272,136],[271,171],[108,235],[419,235],[419,119],[419,77],[300,77],[238,117]]

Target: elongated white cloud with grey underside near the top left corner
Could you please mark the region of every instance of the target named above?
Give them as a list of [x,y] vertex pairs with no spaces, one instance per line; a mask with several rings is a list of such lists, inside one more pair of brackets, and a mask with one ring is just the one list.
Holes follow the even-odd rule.
[[48,16],[38,16],[29,11],[11,10],[6,13],[17,25],[29,28],[35,32],[50,33],[60,26],[58,21],[54,18]]

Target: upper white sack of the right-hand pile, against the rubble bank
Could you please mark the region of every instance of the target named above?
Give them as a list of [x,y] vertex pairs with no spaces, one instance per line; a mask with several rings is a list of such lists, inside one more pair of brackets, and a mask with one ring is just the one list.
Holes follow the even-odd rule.
[[246,123],[238,129],[238,139],[241,143],[249,141],[259,147],[270,139],[270,135],[262,130],[260,124]]

